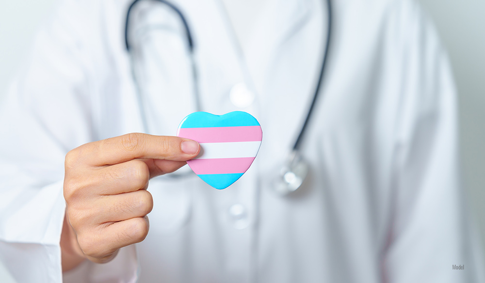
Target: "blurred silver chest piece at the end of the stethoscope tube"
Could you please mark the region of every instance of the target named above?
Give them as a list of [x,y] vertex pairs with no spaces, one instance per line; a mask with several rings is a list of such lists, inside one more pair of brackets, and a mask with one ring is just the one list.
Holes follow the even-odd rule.
[[298,189],[308,175],[308,164],[298,150],[293,150],[274,182],[274,190],[280,195],[290,194]]

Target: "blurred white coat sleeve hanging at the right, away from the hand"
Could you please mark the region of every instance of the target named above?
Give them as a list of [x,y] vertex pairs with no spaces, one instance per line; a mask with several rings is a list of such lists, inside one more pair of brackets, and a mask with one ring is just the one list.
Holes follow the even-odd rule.
[[400,7],[391,22],[401,32],[407,69],[385,282],[485,282],[482,247],[460,181],[457,102],[447,55],[420,8],[396,2]]

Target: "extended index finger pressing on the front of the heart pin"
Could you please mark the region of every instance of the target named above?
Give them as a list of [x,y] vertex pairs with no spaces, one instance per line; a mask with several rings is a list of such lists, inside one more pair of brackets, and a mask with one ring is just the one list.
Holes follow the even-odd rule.
[[133,159],[187,161],[197,156],[200,146],[178,136],[131,133],[87,143],[77,150],[82,163],[102,166]]

